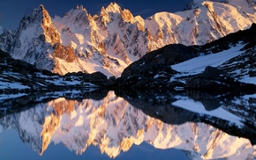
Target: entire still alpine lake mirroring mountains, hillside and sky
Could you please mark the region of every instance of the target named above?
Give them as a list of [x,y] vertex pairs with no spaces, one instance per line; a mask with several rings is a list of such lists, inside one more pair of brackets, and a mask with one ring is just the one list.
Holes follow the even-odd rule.
[[0,95],[1,159],[256,159],[256,94]]

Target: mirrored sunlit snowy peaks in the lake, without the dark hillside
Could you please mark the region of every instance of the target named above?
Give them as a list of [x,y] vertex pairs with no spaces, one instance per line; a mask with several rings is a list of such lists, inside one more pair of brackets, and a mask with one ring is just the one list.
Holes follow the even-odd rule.
[[[199,109],[199,105],[193,104],[199,102],[191,102],[180,96],[177,98],[179,100],[174,102],[175,105],[187,108],[194,106]],[[239,104],[238,99],[232,103]],[[246,101],[246,98],[241,99],[241,103]],[[189,105],[181,102],[188,102]],[[179,114],[186,112],[171,107],[169,106],[169,111],[173,110]],[[233,125],[234,120],[244,119],[234,114],[239,111],[233,110],[232,106],[230,110],[222,107],[213,112],[199,112],[199,115],[218,117],[217,112],[224,111],[227,115],[225,119],[228,123],[230,121],[230,125]],[[154,106],[154,108],[158,107]],[[158,112],[155,112],[155,115]],[[168,116],[176,117],[177,113]],[[215,120],[213,119],[213,122]],[[102,100],[77,101],[57,98],[49,101],[48,104],[36,105],[22,113],[5,115],[1,118],[0,124],[3,129],[17,129],[23,142],[28,143],[32,149],[41,154],[48,148],[50,142],[63,143],[68,149],[78,153],[83,153],[88,146],[95,145],[110,157],[116,157],[120,152],[125,152],[131,149],[132,145],[139,145],[141,142],[148,142],[156,149],[188,150],[197,153],[203,159],[224,157],[250,159],[255,158],[256,153],[255,146],[245,138],[228,135],[200,122],[185,122],[180,125],[163,123],[161,120],[147,116],[123,98],[117,97],[114,92],[109,92]]]

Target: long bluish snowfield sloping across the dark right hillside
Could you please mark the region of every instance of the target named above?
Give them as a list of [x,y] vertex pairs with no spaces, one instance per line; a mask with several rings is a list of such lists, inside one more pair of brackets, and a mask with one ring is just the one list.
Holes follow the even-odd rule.
[[[201,55],[191,60],[172,65],[171,68],[180,72],[172,80],[181,76],[200,74],[207,66],[218,67],[226,74],[244,83],[256,84],[255,51],[256,47],[243,49],[245,44],[237,44],[235,47],[223,50],[217,54]],[[253,73],[253,74],[252,74]]]

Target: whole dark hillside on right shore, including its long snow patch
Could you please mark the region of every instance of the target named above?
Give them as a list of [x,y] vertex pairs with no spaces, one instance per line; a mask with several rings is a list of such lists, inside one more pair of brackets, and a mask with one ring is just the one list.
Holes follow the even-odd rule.
[[[256,91],[256,24],[203,46],[171,44],[132,62],[117,82],[125,90]],[[117,89],[118,91],[118,89]],[[122,92],[122,91],[120,91]]]

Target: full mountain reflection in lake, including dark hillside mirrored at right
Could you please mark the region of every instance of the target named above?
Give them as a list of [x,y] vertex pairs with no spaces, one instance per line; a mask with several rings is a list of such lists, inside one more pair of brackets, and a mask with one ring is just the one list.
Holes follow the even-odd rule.
[[0,128],[17,130],[39,154],[54,142],[79,154],[94,145],[117,157],[147,142],[156,149],[182,149],[191,159],[256,158],[255,95],[120,95],[124,98],[113,91],[102,99],[56,98],[22,112],[5,111]]

